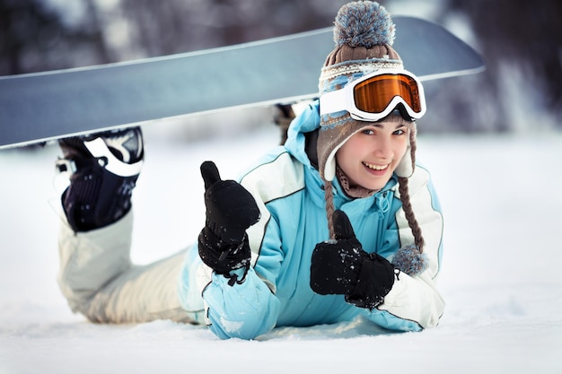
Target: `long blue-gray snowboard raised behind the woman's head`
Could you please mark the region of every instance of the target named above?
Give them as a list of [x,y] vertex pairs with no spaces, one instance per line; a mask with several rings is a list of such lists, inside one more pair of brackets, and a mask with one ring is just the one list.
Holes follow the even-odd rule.
[[[395,16],[393,44],[420,80],[472,74],[479,54],[442,26]],[[312,100],[333,29],[166,57],[0,77],[0,149],[127,126]]]

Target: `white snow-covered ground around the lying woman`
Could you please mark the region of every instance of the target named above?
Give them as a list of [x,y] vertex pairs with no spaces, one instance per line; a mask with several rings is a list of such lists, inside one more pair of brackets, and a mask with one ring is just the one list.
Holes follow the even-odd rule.
[[[203,222],[198,166],[224,178],[277,143],[271,125],[180,143],[146,131],[133,258],[183,248]],[[221,128],[217,132],[222,132]],[[57,289],[57,146],[0,151],[0,373],[562,372],[562,134],[422,135],[445,216],[439,326],[394,334],[364,320],[220,341],[169,321],[91,324]]]

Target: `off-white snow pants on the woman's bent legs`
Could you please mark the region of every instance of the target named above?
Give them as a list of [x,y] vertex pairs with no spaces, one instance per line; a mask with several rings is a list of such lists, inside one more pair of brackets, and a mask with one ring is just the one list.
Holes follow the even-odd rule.
[[70,308],[100,323],[191,322],[178,297],[184,253],[150,265],[133,265],[132,228],[132,213],[84,233],[61,225],[58,284]]

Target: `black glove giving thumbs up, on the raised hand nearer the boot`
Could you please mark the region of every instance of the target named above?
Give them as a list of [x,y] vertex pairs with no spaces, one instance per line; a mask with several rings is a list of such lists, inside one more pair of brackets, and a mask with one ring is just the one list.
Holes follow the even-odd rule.
[[212,161],[201,164],[201,176],[205,181],[206,224],[199,234],[199,257],[218,274],[248,269],[246,229],[259,220],[256,201],[240,183],[222,180]]

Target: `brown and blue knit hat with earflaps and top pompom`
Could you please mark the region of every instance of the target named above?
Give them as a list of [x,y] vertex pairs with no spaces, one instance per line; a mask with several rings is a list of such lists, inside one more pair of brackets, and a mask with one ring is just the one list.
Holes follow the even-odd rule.
[[[343,5],[334,22],[336,47],[321,69],[320,95],[337,91],[347,83],[380,69],[402,70],[402,60],[391,47],[394,34],[394,23],[382,5],[372,1]],[[336,152],[364,126],[364,122],[353,119],[347,111],[321,116],[317,152],[319,170],[324,180],[333,180],[336,175]],[[408,128],[408,150],[395,170],[399,177],[406,178],[413,172],[410,145],[415,142],[415,122],[408,121]]]

